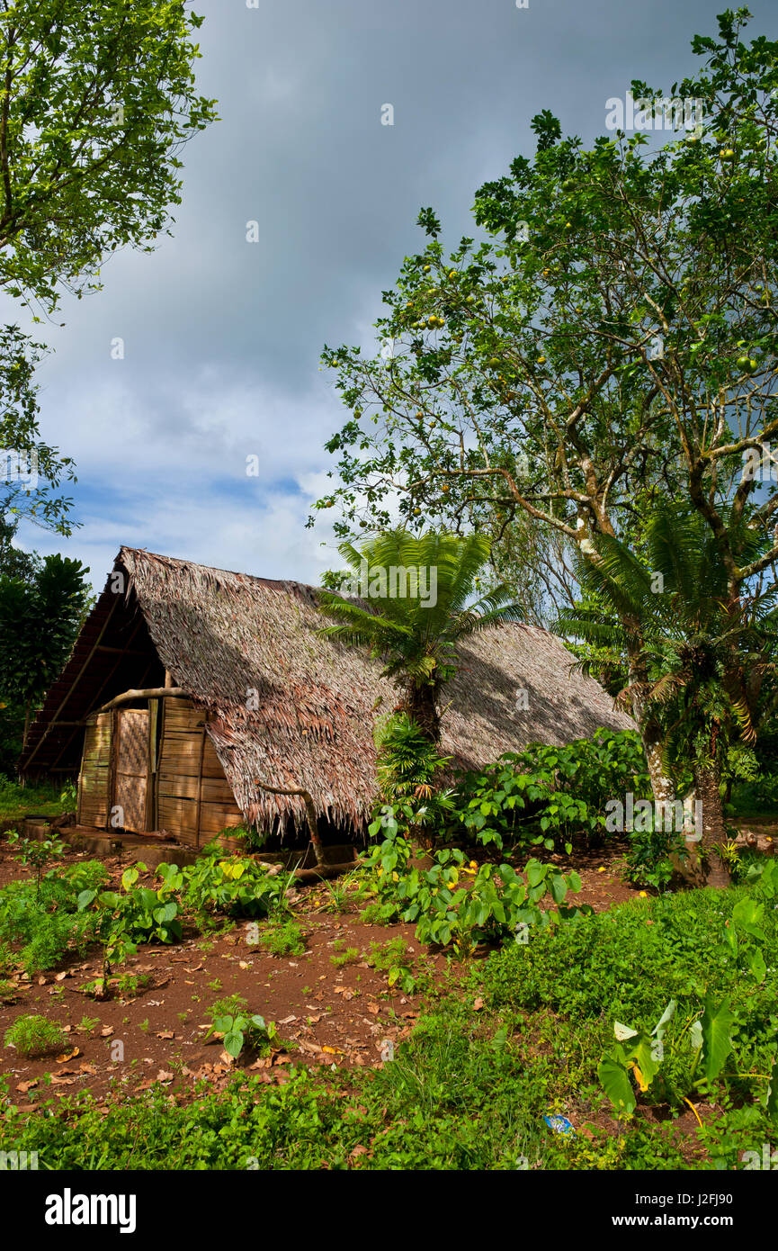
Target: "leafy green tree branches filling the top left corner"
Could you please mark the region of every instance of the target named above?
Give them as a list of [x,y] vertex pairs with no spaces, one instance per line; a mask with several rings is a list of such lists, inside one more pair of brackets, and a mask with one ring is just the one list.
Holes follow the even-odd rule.
[[9,294],[50,313],[59,284],[95,289],[106,255],[149,250],[165,229],[180,146],[214,118],[194,88],[200,23],[156,0],[65,0],[53,13],[15,0],[4,11]]

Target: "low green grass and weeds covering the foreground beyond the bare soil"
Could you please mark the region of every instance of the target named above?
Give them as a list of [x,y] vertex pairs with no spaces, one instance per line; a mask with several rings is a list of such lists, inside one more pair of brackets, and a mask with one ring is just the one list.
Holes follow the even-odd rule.
[[[758,926],[773,961],[762,981],[749,967],[762,940],[742,933],[734,956],[724,938],[749,898],[763,904]],[[218,1095],[204,1085],[186,1107],[160,1091],[106,1115],[89,1096],[51,1101],[50,1115],[31,1118],[9,1101],[4,1137],[50,1168],[123,1168],[130,1152],[139,1168],[742,1167],[743,1152],[775,1137],[764,1076],[778,1036],[773,902],[744,887],[693,891],[533,932],[474,966],[379,1070],[293,1066],[279,1088],[241,1073]],[[395,940],[373,950],[388,972],[408,955]],[[652,1028],[670,997],[667,1080],[619,1118],[597,1072],[613,1023]],[[684,1030],[705,997],[725,998],[735,1023],[724,1073],[695,1091]],[[702,1128],[687,1097],[699,1102]],[[575,1135],[555,1135],[544,1120],[553,1113],[568,1116]]]

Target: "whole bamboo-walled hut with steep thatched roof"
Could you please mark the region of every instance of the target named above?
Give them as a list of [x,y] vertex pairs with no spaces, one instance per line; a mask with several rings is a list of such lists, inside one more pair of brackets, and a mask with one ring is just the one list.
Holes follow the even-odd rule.
[[[74,776],[84,756],[80,819],[95,824],[115,798],[111,777],[145,772],[143,811],[134,827],[125,824],[145,821],[146,829],[178,836],[185,827],[195,844],[223,828],[225,812],[224,824],[304,826],[299,796],[271,794],[256,779],[305,788],[320,818],[361,829],[376,783],[373,728],[397,691],[378,661],[323,638],[321,624],[311,587],[121,548],[30,729],[20,769]],[[598,726],[632,724],[597,682],[570,673],[570,654],[537,627],[478,634],[459,658],[442,727],[444,752],[464,767],[528,742],[565,743]],[[165,687],[176,698],[164,698]],[[149,688],[160,698],[123,696]],[[101,713],[100,721],[98,709],[116,697],[128,714],[145,709],[148,719],[125,716],[120,726]],[[204,822],[208,804],[215,808]]]

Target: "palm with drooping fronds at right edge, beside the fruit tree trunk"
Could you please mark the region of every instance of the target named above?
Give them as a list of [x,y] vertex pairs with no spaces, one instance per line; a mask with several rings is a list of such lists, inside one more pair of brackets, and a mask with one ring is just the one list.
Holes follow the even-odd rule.
[[[750,560],[762,534],[742,523],[737,529],[743,560]],[[658,508],[643,548],[639,559],[618,538],[597,535],[579,560],[587,603],[562,612],[555,628],[629,656],[619,699],[638,713],[647,756],[663,744],[662,773],[690,766],[707,856],[725,837],[719,783],[727,746],[737,733],[755,739],[759,694],[775,673],[775,593],[755,588],[732,599],[714,537],[695,512]],[[673,794],[654,787],[654,797]]]

